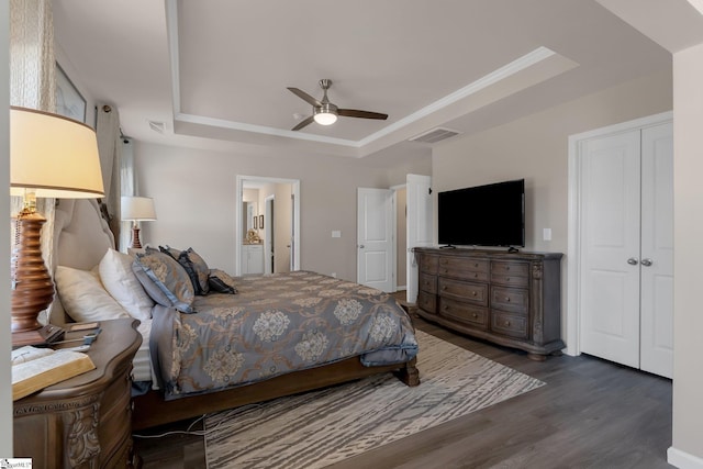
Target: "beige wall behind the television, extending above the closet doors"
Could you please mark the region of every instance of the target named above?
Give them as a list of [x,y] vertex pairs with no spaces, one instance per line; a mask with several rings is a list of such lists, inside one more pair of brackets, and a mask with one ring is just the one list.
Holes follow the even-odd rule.
[[[671,108],[671,71],[663,70],[447,142],[433,152],[435,194],[448,189],[525,178],[525,249],[566,255],[569,135]],[[543,228],[551,228],[551,242],[543,241]],[[567,331],[567,263],[568,259],[562,264],[563,337]]]

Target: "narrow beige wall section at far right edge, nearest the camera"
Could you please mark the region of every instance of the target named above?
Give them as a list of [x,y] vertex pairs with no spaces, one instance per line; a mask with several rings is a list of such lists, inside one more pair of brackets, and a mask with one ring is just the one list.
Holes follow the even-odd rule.
[[672,448],[700,458],[695,464],[690,461],[689,466],[680,467],[703,467],[703,314],[701,293],[698,291],[703,265],[703,44],[674,54],[673,77],[676,252]]

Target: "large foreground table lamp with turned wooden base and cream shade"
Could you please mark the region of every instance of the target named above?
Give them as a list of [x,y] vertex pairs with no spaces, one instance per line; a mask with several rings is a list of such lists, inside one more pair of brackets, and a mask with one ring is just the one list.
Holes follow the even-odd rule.
[[36,198],[104,197],[96,132],[88,125],[26,108],[10,108],[10,193],[22,196],[11,258],[12,345],[41,345],[64,332],[37,317],[54,299],[54,281],[42,258],[46,219]]

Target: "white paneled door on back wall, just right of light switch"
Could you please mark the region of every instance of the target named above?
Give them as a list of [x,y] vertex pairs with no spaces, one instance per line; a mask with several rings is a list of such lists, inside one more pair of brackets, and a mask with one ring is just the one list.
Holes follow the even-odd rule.
[[357,282],[393,289],[393,191],[357,190]]

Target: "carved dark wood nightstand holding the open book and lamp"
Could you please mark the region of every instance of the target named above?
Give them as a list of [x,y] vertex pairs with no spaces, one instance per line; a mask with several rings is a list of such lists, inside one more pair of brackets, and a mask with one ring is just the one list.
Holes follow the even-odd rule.
[[[96,369],[14,402],[14,457],[37,468],[132,467],[132,359],[138,321],[102,321]],[[78,344],[71,344],[78,345]]]

